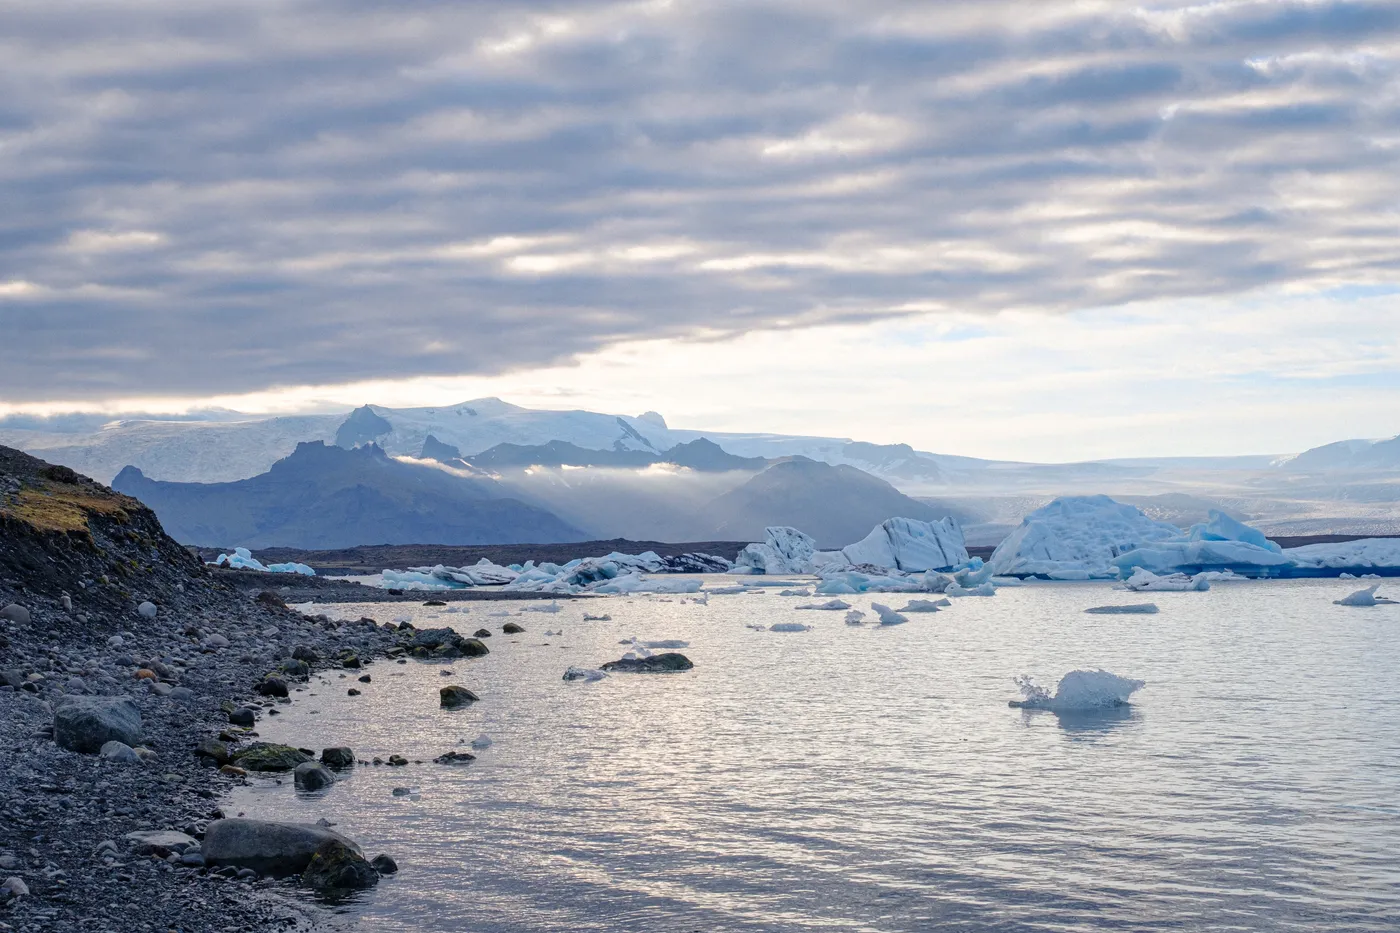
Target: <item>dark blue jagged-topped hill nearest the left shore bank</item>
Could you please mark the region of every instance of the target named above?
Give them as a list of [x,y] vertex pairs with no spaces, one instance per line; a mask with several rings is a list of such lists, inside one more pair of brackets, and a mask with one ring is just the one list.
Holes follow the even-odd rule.
[[489,478],[405,464],[375,444],[298,444],[266,474],[230,483],[169,483],[127,466],[112,488],[150,506],[185,544],[353,548],[365,544],[587,541],[552,511]]

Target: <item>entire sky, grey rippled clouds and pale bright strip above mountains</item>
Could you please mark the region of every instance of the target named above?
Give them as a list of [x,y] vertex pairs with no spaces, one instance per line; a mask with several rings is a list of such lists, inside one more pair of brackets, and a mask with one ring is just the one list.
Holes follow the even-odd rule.
[[0,413],[1400,431],[1400,3],[3,6]]

